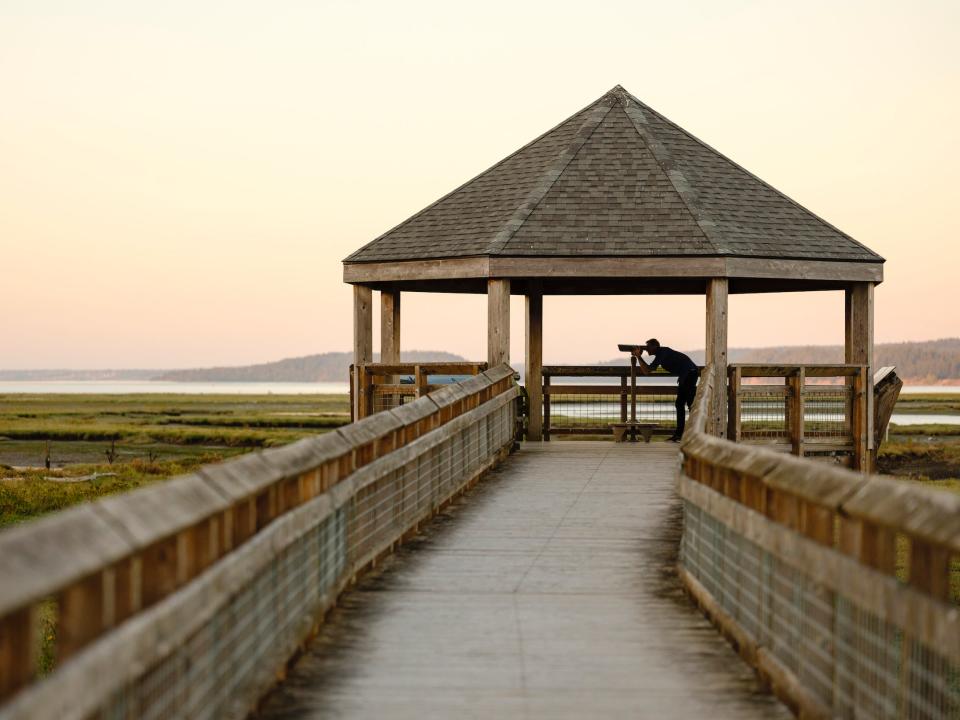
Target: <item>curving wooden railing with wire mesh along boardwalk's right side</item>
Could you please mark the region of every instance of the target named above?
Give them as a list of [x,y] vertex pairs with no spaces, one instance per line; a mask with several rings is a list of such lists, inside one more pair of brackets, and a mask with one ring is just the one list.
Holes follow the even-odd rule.
[[681,445],[680,573],[801,717],[960,714],[960,496],[705,432]]

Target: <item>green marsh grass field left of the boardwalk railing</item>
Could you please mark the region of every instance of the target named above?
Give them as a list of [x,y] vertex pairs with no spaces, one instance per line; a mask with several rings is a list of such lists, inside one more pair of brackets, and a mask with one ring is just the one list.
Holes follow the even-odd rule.
[[328,432],[349,413],[346,395],[0,395],[0,527]]

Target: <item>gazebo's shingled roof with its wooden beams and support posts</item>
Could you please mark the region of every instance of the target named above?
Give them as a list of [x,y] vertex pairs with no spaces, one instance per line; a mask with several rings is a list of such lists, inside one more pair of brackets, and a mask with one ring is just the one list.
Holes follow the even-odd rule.
[[510,295],[524,295],[537,439],[544,294],[704,294],[706,362],[725,382],[729,293],[842,289],[846,362],[869,370],[883,262],[617,86],[354,252],[344,281],[356,365],[373,357],[373,290],[388,363],[399,362],[401,292],[486,293],[491,365],[509,361]]

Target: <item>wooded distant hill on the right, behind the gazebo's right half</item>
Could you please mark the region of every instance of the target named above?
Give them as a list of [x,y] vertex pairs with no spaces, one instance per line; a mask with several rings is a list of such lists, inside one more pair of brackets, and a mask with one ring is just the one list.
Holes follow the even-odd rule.
[[[694,362],[703,364],[703,350],[685,351]],[[791,345],[766,348],[730,348],[730,362],[769,365],[802,363],[842,363],[842,345]],[[608,360],[604,365],[624,365],[626,356]],[[956,384],[960,382],[960,338],[925,342],[878,343],[874,347],[874,367],[895,365],[897,374],[912,385]]]

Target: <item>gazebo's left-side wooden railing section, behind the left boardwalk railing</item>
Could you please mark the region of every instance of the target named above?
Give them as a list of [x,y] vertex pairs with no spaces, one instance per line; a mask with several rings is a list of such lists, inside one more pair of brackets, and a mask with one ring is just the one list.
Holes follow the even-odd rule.
[[[478,375],[487,369],[480,362],[367,363],[350,366],[350,412],[354,408],[354,379],[360,393],[360,417],[399,407],[441,387],[431,384],[438,375]],[[401,382],[410,377],[413,382]],[[354,418],[351,415],[351,420]]]

